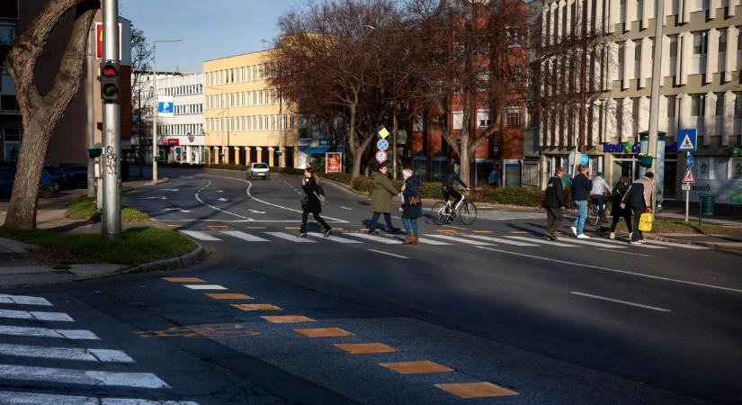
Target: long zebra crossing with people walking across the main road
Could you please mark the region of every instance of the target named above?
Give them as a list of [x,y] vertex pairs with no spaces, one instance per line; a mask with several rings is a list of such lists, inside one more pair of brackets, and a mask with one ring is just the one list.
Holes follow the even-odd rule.
[[[283,231],[255,231],[244,232],[241,230],[193,230],[183,229],[184,234],[206,242],[224,242],[231,240],[240,240],[244,242],[259,243],[290,243],[290,244],[340,244],[340,245],[362,245],[362,244],[381,244],[381,245],[399,245],[405,239],[401,234],[368,234],[365,232],[344,232],[325,237],[320,232],[309,232],[308,238],[299,238],[298,234]],[[673,242],[664,242],[659,240],[648,240],[643,245],[630,245],[627,239],[607,239],[607,238],[560,238],[559,240],[548,240],[538,236],[487,236],[475,233],[444,233],[444,234],[426,234],[419,238],[420,245],[429,246],[472,246],[472,247],[491,247],[505,245],[509,247],[523,248],[541,248],[541,247],[603,247],[606,249],[667,249],[683,248],[690,250],[708,249],[709,247],[684,245]],[[0,311],[0,318],[3,313]]]

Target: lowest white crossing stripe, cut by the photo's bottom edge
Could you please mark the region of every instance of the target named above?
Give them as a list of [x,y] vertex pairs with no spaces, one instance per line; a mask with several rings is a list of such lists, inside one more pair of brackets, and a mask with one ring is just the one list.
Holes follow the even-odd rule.
[[0,403],[8,405],[199,405],[193,401],[149,401],[134,398],[99,398],[36,392],[0,392]]

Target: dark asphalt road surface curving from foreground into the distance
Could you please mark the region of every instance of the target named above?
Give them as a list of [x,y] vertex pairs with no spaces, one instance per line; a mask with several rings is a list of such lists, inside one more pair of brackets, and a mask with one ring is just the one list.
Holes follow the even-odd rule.
[[[76,322],[70,329],[100,338],[63,345],[120,349],[135,360],[98,361],[95,370],[152,374],[167,387],[134,386],[142,383],[125,374],[111,378],[129,385],[91,388],[70,371],[90,370],[83,361],[70,366],[23,347],[4,352],[16,340],[44,346],[54,338],[27,343],[3,325],[59,327],[4,319],[0,358],[12,367],[0,365],[0,403],[2,392],[200,404],[460,403],[435,386],[451,383],[491,383],[509,394],[466,400],[473,403],[742,401],[738,253],[567,236],[548,243],[541,213],[494,210],[481,210],[469,227],[423,218],[424,243],[402,246],[363,233],[369,201],[328,183],[323,216],[334,238],[302,239],[299,177],[165,173],[171,183],[126,193],[125,202],[201,239],[211,254],[199,266],[3,293],[43,297],[54,307],[27,311],[62,311]],[[307,318],[262,318],[274,315]],[[333,336],[294,330],[317,328]],[[350,355],[334,346],[346,343],[395,351]],[[7,354],[19,350],[31,355]],[[399,374],[380,366],[412,361],[434,368]],[[64,371],[52,377],[62,376],[39,377],[54,367]]]

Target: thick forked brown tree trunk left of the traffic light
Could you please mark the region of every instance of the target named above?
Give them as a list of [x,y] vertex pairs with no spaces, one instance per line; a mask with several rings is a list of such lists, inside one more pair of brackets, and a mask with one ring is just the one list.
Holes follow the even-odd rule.
[[[15,82],[23,121],[23,141],[5,229],[36,228],[39,181],[49,139],[80,85],[87,33],[100,7],[98,0],[47,1],[40,14],[13,42],[5,59],[5,69]],[[40,94],[34,72],[51,32],[67,13],[75,15],[67,48],[49,92]]]

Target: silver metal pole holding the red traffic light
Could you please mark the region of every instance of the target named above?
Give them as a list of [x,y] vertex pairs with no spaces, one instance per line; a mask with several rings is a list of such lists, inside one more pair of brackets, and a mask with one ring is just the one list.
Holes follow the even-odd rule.
[[[103,0],[103,60],[119,63],[119,1]],[[119,72],[116,72],[118,76]],[[116,89],[118,92],[118,88]],[[106,239],[121,237],[121,103],[103,103],[103,220]]]

